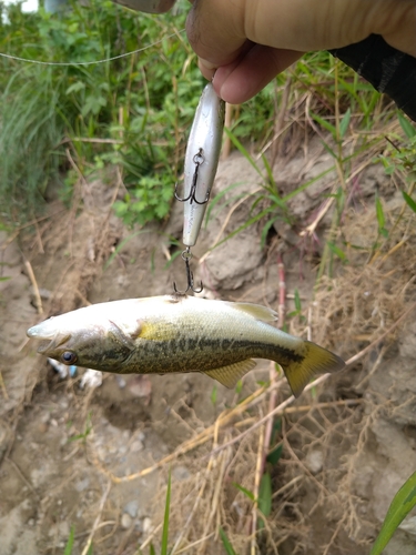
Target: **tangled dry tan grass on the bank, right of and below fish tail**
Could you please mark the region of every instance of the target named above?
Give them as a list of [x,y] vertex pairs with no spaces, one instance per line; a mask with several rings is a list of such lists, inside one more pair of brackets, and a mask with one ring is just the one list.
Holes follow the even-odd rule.
[[[313,395],[304,394],[295,406],[291,406],[293,397],[284,398],[282,381],[263,386],[155,465],[135,475],[111,476],[120,482],[156,468],[168,472],[179,458],[186,465],[191,477],[173,485],[173,554],[216,552],[220,527],[239,554],[311,553],[311,542],[323,555],[341,553],[341,545],[344,549],[368,548],[375,523],[366,515],[354,481],[371,425],[386,406],[359,392],[416,307],[410,302],[415,295],[415,218],[406,211],[397,219],[399,212],[397,206],[386,211],[393,232],[377,249],[374,212],[348,214],[345,236],[365,238],[367,246],[358,255],[348,251],[351,263],[339,268],[335,279],[321,281],[308,311],[314,341],[349,355],[352,367],[361,365],[358,377],[346,371],[342,384],[335,385],[334,379],[327,391],[312,384]],[[307,326],[298,319],[292,321],[297,334],[306,333]],[[375,352],[375,360],[368,359]],[[349,398],[335,398],[334,385]],[[275,392],[277,406],[271,408],[270,397]],[[266,466],[273,495],[265,518],[235,484],[257,497],[265,426],[276,417],[282,421],[282,432],[275,442],[283,444],[284,454],[275,467]],[[162,518],[163,490],[158,505],[156,522]],[[258,528],[258,518],[264,519],[264,528]],[[158,544],[158,534],[153,541]]]

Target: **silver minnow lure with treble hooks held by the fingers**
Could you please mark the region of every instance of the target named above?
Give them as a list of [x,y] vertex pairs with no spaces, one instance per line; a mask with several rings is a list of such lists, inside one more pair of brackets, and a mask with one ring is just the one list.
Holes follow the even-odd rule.
[[196,243],[204,219],[219,165],[224,117],[225,102],[210,83],[202,92],[186,147],[183,194],[183,243],[186,246]]

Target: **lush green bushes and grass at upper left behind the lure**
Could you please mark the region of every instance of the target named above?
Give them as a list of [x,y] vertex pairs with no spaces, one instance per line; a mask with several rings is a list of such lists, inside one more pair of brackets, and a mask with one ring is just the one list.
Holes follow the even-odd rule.
[[[71,194],[67,149],[85,175],[122,169],[129,193],[115,210],[128,224],[168,214],[205,84],[183,31],[187,10],[184,0],[163,17],[98,0],[58,14],[1,7],[1,52],[61,65],[0,59],[0,218],[33,218],[51,181]],[[267,112],[260,95],[239,133],[258,135]]]

